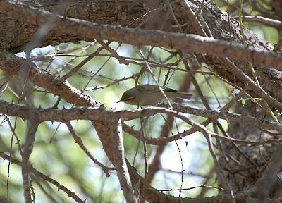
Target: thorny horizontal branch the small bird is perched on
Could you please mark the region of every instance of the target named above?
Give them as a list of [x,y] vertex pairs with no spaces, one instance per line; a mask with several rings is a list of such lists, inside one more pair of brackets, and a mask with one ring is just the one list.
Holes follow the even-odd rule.
[[43,121],[71,121],[71,120],[91,120],[101,121],[101,119],[109,118],[113,115],[120,116],[124,120],[132,120],[142,116],[152,116],[157,113],[167,113],[171,116],[178,115],[179,112],[190,113],[196,116],[202,116],[212,119],[226,119],[227,121],[235,121],[245,124],[252,124],[264,128],[264,130],[277,130],[282,132],[282,124],[262,120],[252,116],[243,116],[238,113],[228,113],[221,111],[212,111],[207,109],[198,109],[192,106],[182,106],[180,104],[173,105],[175,111],[165,109],[162,107],[147,107],[138,110],[123,110],[111,111],[102,108],[93,107],[73,107],[72,109],[40,109],[31,108],[20,104],[11,104],[7,101],[0,100],[0,113],[7,114],[8,116],[18,116],[21,118],[28,118],[30,111],[36,113],[37,119]]

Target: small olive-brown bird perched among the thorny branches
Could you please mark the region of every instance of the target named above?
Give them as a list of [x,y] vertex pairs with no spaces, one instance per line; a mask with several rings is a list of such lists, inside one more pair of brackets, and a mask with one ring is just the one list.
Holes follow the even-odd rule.
[[[192,94],[178,92],[168,87],[161,87],[169,100],[190,99]],[[138,85],[123,92],[123,96],[118,102],[124,102],[130,105],[153,106],[160,101],[165,101],[164,94],[161,93],[157,85]]]

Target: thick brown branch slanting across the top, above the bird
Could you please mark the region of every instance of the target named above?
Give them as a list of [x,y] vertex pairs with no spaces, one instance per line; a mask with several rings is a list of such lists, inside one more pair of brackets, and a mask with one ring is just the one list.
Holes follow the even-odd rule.
[[[30,8],[22,3],[7,4],[7,1],[1,1],[0,12],[5,13],[7,9],[15,11],[13,18],[22,19],[25,23],[37,26],[44,23],[50,16],[54,16],[48,11]],[[264,67],[282,70],[281,54],[198,35],[101,25],[65,16],[56,16],[56,24],[54,24],[53,29],[58,33],[75,35],[90,42],[94,39],[109,39],[133,45],[166,47],[181,51],[206,53],[212,56],[226,56],[235,61],[240,59],[240,61],[250,61]]]

